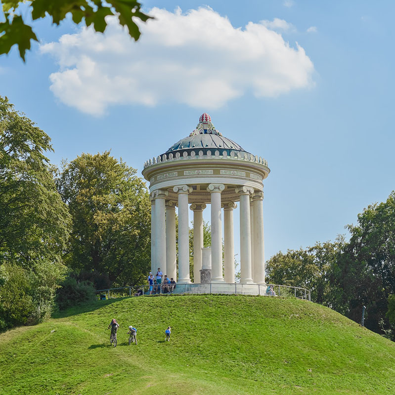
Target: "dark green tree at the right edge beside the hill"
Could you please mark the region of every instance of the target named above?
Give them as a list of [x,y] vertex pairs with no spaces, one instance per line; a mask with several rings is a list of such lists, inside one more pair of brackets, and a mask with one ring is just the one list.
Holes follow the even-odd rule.
[[[386,202],[369,205],[349,225],[351,237],[330,279],[339,290],[335,309],[355,321],[366,306],[365,326],[382,331],[380,319],[395,293],[395,192]],[[388,319],[385,324],[389,325]]]

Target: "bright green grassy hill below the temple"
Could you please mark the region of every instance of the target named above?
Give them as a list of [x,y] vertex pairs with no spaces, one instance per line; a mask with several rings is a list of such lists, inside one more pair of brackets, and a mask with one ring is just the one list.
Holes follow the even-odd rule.
[[[115,349],[106,330],[113,317]],[[127,343],[131,324],[137,346]],[[395,394],[395,343],[296,299],[97,301],[0,334],[0,358],[7,395]]]

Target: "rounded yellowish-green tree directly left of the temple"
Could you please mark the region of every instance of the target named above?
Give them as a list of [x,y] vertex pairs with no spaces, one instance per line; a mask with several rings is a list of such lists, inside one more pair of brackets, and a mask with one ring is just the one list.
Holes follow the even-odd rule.
[[73,221],[65,255],[71,269],[108,275],[120,286],[145,280],[151,204],[135,174],[109,152],[63,162],[56,185]]

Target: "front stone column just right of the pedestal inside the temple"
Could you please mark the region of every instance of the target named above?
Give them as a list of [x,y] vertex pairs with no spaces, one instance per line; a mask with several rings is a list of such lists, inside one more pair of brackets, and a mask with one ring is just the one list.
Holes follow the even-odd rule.
[[223,282],[221,192],[224,189],[223,184],[207,187],[211,193],[211,282]]

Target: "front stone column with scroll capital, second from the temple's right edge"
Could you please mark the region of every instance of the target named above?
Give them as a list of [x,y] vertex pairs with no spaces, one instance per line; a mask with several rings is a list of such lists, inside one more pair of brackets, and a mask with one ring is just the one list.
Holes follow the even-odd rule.
[[242,186],[236,188],[240,195],[240,283],[252,284],[251,278],[251,225],[250,195],[253,188]]

